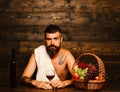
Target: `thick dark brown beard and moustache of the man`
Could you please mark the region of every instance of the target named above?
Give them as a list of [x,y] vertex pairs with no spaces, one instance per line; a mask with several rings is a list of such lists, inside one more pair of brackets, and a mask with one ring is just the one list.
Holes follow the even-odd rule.
[[46,50],[51,58],[53,58],[60,50],[60,46],[50,45],[46,46]]

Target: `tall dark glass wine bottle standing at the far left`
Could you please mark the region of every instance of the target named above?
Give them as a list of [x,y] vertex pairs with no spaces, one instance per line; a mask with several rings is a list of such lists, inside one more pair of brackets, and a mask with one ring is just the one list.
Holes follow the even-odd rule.
[[12,49],[12,61],[10,62],[10,87],[17,87],[15,50]]

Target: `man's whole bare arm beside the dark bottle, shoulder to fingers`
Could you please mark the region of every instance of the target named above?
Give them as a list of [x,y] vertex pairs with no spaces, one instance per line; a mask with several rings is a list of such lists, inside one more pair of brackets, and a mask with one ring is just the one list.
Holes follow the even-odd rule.
[[35,69],[36,69],[36,61],[35,61],[35,54],[33,53],[22,74],[21,77],[22,82],[25,84],[33,85],[36,88],[52,89],[52,86],[48,82],[31,79],[33,73],[35,72]]

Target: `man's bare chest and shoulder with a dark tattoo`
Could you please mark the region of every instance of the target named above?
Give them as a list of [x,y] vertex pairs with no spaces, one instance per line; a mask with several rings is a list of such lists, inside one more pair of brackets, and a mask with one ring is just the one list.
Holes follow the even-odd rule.
[[65,80],[68,77],[69,71],[72,74],[71,53],[65,49],[61,49],[59,55],[52,59],[53,66],[58,74],[60,80]]

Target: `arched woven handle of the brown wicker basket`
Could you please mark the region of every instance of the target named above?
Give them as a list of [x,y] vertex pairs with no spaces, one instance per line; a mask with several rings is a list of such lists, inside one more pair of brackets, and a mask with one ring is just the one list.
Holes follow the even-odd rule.
[[79,58],[81,58],[85,55],[93,56],[97,60],[98,67],[99,67],[99,74],[102,74],[102,78],[105,79],[105,74],[106,74],[105,73],[105,66],[104,66],[103,61],[97,55],[95,55],[93,53],[83,53],[83,54],[79,55],[79,57],[76,59],[76,61],[78,61]]

